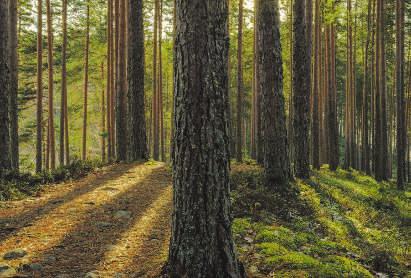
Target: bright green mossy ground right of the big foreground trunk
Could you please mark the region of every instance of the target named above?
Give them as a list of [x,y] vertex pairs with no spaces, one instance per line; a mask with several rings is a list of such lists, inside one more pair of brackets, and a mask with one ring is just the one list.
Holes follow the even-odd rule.
[[[295,182],[299,194],[293,201],[286,195],[287,204],[300,205],[281,211],[271,204],[281,195],[259,185],[258,166],[233,166],[239,184],[233,209],[242,215],[233,232],[246,265],[270,277],[405,276],[410,271],[409,192],[355,171],[334,173],[324,167],[314,174]],[[260,202],[261,210],[247,208],[250,200]]]

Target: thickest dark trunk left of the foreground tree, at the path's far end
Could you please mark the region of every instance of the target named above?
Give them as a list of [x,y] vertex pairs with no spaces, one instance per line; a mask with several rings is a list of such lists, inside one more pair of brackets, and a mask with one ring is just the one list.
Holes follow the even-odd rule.
[[129,160],[148,159],[144,105],[143,1],[128,0]]

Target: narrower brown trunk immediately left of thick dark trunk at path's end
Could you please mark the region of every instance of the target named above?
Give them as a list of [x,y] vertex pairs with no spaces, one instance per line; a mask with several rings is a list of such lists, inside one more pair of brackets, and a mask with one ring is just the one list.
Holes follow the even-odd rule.
[[118,75],[116,101],[116,149],[119,161],[127,160],[127,80],[126,80],[126,0],[120,0],[118,37]]

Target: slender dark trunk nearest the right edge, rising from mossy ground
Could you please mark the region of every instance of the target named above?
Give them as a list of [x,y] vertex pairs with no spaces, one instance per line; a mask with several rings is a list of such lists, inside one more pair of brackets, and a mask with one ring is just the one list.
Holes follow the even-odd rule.
[[404,1],[397,0],[397,54],[396,54],[396,93],[397,93],[397,187],[404,189],[406,180],[405,152],[407,150],[407,126],[405,114],[404,85]]

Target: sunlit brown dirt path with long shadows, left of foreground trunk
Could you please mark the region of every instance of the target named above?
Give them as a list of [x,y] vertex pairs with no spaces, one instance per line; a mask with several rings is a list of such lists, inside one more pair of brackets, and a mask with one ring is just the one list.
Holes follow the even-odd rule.
[[[17,277],[154,277],[167,257],[171,199],[163,164],[123,164],[3,203],[0,270],[7,264]],[[27,254],[4,259],[19,249]]]

